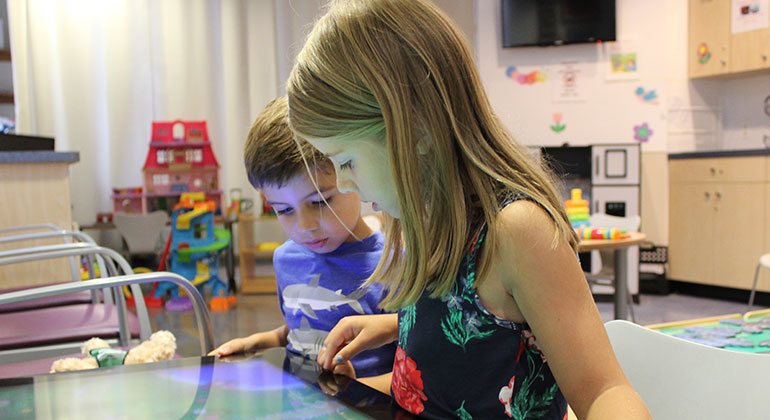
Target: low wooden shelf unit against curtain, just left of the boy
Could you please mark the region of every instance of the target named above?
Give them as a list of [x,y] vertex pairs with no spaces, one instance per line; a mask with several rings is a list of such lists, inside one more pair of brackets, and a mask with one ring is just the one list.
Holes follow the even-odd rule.
[[238,216],[238,254],[242,293],[276,292],[273,251],[260,251],[257,244],[284,240],[286,235],[275,217],[260,217],[248,213]]

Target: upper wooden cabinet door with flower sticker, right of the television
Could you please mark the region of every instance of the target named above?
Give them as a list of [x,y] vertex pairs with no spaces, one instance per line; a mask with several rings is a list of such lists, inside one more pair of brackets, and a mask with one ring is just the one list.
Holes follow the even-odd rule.
[[690,0],[687,47],[690,77],[730,71],[731,0]]

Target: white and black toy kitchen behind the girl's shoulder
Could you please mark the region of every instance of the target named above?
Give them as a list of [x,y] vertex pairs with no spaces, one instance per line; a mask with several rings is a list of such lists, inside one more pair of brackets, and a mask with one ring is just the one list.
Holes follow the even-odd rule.
[[[590,203],[590,212],[612,216],[636,216],[641,204],[641,156],[639,144],[601,144],[590,146],[541,147],[536,149],[541,159],[557,173],[562,183],[562,199],[570,198],[573,188],[583,191]],[[598,261],[590,254],[581,254],[586,272]],[[639,293],[639,247],[628,256],[628,290]],[[605,290],[606,289],[606,290]],[[607,288],[593,288],[595,295],[611,294]]]

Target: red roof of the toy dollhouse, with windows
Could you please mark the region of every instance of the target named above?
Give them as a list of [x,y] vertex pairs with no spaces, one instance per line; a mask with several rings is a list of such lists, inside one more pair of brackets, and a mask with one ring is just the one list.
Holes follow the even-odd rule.
[[[174,127],[184,128],[182,138],[174,138]],[[158,151],[162,158],[159,161]],[[219,163],[211,148],[206,121],[153,121],[150,150],[142,169],[168,168],[169,163],[189,164],[194,168],[218,168]]]

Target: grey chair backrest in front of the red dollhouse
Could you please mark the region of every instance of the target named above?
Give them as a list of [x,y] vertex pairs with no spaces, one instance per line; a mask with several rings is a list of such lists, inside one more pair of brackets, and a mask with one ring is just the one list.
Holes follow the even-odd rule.
[[128,248],[128,258],[158,256],[161,233],[168,223],[168,214],[162,210],[147,214],[115,213],[115,228]]

